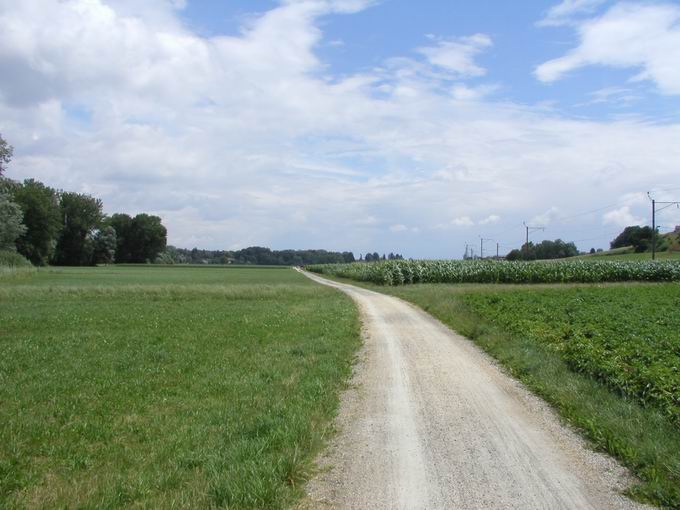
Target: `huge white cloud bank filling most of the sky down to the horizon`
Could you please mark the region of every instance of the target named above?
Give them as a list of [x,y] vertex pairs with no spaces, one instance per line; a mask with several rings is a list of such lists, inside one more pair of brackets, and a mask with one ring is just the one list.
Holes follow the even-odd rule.
[[452,83],[483,73],[479,35],[333,75],[322,18],[369,5],[289,1],[202,37],[170,0],[0,0],[9,176],[159,214],[179,246],[414,257],[450,256],[473,218],[521,227],[676,179],[678,124],[567,118]]

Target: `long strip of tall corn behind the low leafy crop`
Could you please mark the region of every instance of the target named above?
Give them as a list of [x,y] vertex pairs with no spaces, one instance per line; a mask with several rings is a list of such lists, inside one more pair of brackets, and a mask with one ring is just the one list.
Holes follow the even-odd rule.
[[320,264],[308,270],[378,285],[680,281],[678,262],[390,260]]

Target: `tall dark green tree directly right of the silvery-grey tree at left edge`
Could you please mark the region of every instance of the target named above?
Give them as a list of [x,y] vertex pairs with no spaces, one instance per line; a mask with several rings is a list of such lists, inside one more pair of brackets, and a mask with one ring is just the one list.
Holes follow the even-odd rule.
[[57,192],[34,179],[14,190],[14,201],[23,213],[26,231],[17,239],[17,250],[36,265],[46,265],[54,253],[61,231]]

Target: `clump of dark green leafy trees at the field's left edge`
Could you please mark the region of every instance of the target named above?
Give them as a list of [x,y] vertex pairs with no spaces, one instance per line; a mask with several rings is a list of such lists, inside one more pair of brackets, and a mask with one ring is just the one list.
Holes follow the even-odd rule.
[[55,190],[35,179],[4,176],[12,147],[0,136],[0,250],[17,251],[35,265],[80,266],[152,262],[165,249],[158,216],[107,216],[100,199]]

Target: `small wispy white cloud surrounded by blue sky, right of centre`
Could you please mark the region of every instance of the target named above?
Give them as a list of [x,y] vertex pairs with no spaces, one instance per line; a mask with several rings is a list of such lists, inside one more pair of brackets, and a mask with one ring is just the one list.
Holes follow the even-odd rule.
[[475,57],[493,45],[486,34],[474,34],[455,40],[438,41],[435,46],[419,48],[428,61],[460,77],[483,76],[486,70],[475,63]]

